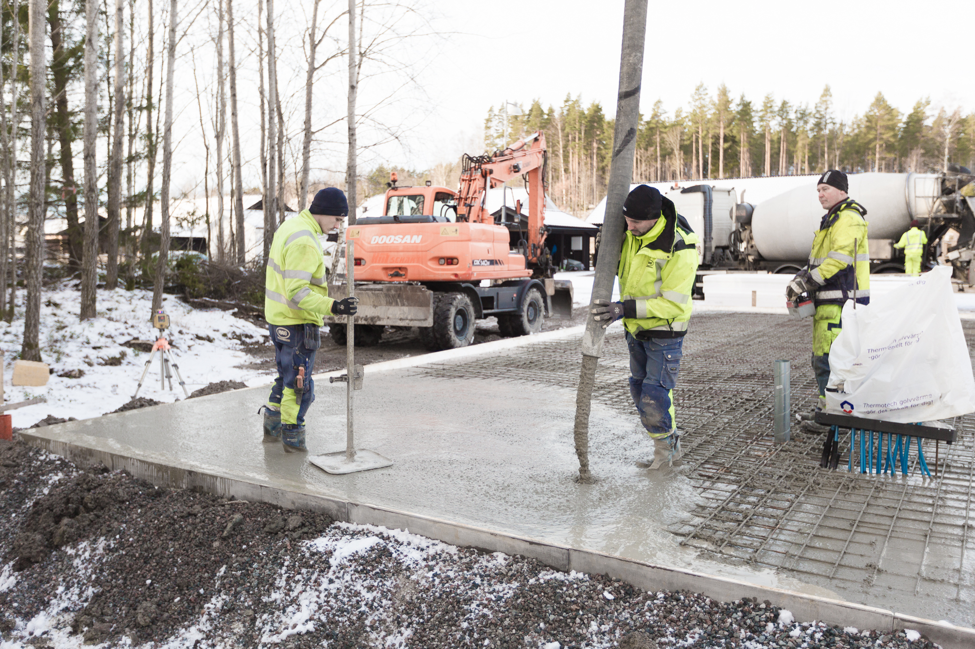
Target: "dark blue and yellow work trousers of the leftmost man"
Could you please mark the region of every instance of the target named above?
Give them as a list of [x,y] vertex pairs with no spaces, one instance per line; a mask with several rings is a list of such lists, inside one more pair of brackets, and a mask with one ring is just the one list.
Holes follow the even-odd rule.
[[[315,366],[315,350],[321,346],[317,325],[267,325],[274,343],[274,360],[278,375],[271,386],[267,404],[281,410],[283,426],[304,426],[308,406],[315,401],[315,382],[311,378]],[[298,369],[304,367],[304,387],[298,391]]]

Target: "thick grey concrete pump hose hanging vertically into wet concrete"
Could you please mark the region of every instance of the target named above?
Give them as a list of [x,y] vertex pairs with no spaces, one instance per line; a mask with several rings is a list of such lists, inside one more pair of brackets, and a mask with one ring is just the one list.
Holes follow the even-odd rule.
[[[640,84],[643,77],[643,40],[646,35],[646,0],[626,0],[623,8],[623,48],[619,64],[619,94],[616,95],[616,127],[613,130],[612,159],[609,165],[609,184],[602,248],[596,262],[593,299],[612,299],[613,278],[623,246],[623,202],[630,193],[633,177],[633,155],[637,148],[637,127],[640,120]],[[586,318],[582,334],[582,371],[575,397],[575,454],[579,457],[579,481],[591,482],[589,473],[589,411],[596,380],[596,365],[603,351],[605,329]]]

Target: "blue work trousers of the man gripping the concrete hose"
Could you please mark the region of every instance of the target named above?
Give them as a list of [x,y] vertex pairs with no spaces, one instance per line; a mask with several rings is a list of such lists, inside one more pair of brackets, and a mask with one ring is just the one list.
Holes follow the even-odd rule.
[[651,438],[665,438],[677,428],[674,387],[683,357],[682,338],[638,340],[628,331],[630,396]]

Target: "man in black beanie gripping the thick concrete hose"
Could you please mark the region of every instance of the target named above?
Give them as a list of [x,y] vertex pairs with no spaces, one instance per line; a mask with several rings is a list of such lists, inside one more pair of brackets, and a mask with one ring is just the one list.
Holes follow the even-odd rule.
[[594,320],[617,320],[630,351],[630,395],[653,439],[651,469],[681,458],[674,388],[690,321],[697,273],[697,235],[656,188],[640,185],[623,203],[626,236],[620,253],[620,301],[595,300]]

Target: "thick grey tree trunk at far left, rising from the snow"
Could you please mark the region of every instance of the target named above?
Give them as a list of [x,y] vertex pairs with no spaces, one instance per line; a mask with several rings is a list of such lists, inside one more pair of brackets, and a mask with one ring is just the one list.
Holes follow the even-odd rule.
[[47,2],[30,0],[30,203],[27,220],[27,255],[24,263],[27,293],[23,316],[23,346],[20,358],[40,361],[41,274],[44,268],[44,185],[47,170],[44,155],[47,52],[44,26]]

